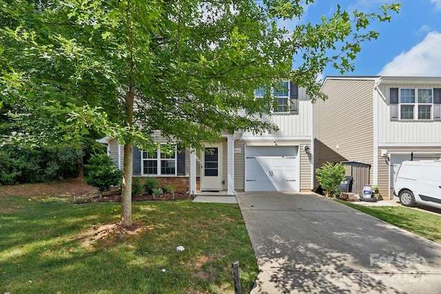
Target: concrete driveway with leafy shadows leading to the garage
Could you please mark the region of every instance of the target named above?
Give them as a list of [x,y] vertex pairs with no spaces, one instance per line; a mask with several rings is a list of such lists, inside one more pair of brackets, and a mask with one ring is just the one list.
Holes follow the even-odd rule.
[[252,293],[441,293],[441,245],[315,193],[236,196]]

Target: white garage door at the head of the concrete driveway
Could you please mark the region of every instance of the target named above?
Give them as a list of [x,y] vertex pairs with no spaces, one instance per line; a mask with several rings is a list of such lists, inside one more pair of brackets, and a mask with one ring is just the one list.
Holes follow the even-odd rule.
[[298,147],[247,147],[245,191],[299,191]]

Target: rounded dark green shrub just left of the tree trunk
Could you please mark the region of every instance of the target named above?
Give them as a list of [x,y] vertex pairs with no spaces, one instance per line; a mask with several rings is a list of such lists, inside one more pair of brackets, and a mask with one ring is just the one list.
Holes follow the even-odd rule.
[[120,171],[110,156],[107,154],[96,154],[85,165],[86,176],[84,178],[88,185],[97,187],[100,192],[110,190],[121,181],[123,171]]

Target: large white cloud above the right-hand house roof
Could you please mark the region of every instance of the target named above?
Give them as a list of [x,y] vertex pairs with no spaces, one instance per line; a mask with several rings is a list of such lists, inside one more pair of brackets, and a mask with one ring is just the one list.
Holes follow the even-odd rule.
[[[440,1],[440,0],[439,0]],[[421,43],[387,63],[382,76],[441,76],[441,33],[429,32]]]

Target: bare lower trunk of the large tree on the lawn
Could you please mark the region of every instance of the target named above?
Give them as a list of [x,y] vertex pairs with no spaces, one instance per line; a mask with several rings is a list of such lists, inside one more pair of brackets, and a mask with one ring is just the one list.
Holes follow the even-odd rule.
[[121,224],[125,228],[132,227],[132,173],[133,173],[133,146],[124,145],[123,191],[121,199]]

